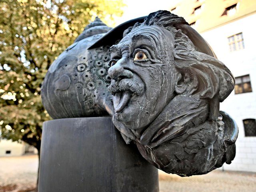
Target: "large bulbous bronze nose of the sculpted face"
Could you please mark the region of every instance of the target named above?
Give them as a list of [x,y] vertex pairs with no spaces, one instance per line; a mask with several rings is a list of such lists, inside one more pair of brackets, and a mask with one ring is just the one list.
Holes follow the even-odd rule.
[[116,64],[114,64],[112,67],[109,68],[108,70],[108,74],[110,76],[110,78],[114,79],[114,80],[121,80],[124,78],[132,78],[133,74],[130,70],[127,70],[126,68],[124,68],[124,66],[126,63],[126,58],[123,57],[120,60],[118,60],[118,62],[116,62]]

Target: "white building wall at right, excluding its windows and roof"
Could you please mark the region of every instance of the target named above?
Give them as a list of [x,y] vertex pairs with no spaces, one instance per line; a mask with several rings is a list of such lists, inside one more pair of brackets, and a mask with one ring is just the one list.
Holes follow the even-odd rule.
[[[210,44],[218,59],[232,72],[234,77],[250,75],[252,92],[234,94],[220,104],[220,110],[230,114],[239,127],[236,142],[236,158],[232,164],[224,164],[224,170],[256,172],[256,137],[244,136],[242,120],[256,119],[256,14],[241,18],[224,26],[201,33]],[[242,32],[244,50],[229,51],[228,37]]]

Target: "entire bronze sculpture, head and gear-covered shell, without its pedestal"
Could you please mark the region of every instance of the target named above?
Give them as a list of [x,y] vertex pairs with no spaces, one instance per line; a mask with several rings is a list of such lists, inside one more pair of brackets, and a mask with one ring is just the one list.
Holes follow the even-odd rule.
[[126,143],[168,173],[206,174],[230,164],[238,128],[219,104],[234,77],[202,36],[168,11],[109,32],[99,20],[95,26],[50,67],[42,90],[49,114],[112,116]]

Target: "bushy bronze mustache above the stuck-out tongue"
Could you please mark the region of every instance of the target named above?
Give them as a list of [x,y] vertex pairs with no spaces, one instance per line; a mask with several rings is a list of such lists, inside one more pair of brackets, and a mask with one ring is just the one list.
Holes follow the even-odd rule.
[[116,92],[122,92],[129,90],[141,96],[144,93],[144,84],[139,81],[132,81],[130,79],[122,79],[115,81],[110,84],[108,91],[114,95]]

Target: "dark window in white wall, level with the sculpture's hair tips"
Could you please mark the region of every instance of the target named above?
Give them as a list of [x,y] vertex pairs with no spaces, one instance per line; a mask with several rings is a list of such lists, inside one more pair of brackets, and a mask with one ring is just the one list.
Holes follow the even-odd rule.
[[236,77],[235,94],[252,92],[250,76],[244,75]]

